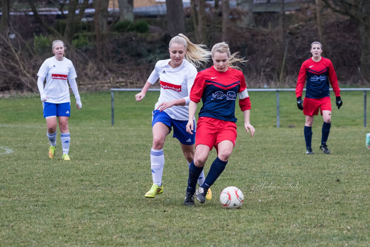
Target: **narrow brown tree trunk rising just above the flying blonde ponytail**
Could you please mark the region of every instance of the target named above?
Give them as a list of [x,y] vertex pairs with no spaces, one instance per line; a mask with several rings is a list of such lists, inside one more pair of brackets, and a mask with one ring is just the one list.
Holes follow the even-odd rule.
[[190,0],[191,16],[194,23],[195,40],[198,44],[207,40],[205,0]]

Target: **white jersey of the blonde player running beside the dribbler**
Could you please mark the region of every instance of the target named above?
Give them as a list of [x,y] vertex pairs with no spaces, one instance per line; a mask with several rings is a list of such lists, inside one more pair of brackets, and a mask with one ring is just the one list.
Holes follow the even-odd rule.
[[[161,84],[161,94],[158,102],[155,104],[155,110],[159,104],[165,101],[189,97],[195,76],[198,73],[195,66],[186,59],[175,69],[169,66],[169,61],[171,59],[159,60],[148,79],[149,83],[154,84],[159,78],[159,83]],[[189,106],[172,106],[164,111],[172,119],[189,120]]]

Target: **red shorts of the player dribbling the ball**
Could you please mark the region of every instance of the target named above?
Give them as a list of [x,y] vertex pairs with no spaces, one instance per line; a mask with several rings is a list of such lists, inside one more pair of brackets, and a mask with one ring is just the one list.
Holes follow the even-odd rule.
[[229,140],[235,146],[236,123],[214,119],[213,117],[199,117],[195,132],[195,146],[204,144],[212,150],[217,150],[217,144]]

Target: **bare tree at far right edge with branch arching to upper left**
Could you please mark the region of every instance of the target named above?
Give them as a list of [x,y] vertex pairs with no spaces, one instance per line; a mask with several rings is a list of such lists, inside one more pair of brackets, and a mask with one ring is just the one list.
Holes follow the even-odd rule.
[[350,17],[356,23],[361,41],[361,75],[370,81],[370,4],[369,0],[323,0],[326,7]]

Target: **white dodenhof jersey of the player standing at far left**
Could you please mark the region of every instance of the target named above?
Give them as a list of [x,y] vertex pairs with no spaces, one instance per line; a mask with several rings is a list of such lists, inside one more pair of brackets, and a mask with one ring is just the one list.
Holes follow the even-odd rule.
[[63,61],[58,61],[55,57],[50,57],[41,65],[37,76],[46,78],[44,93],[49,97],[47,102],[55,104],[71,102],[67,79],[77,77],[71,60],[64,57]]

